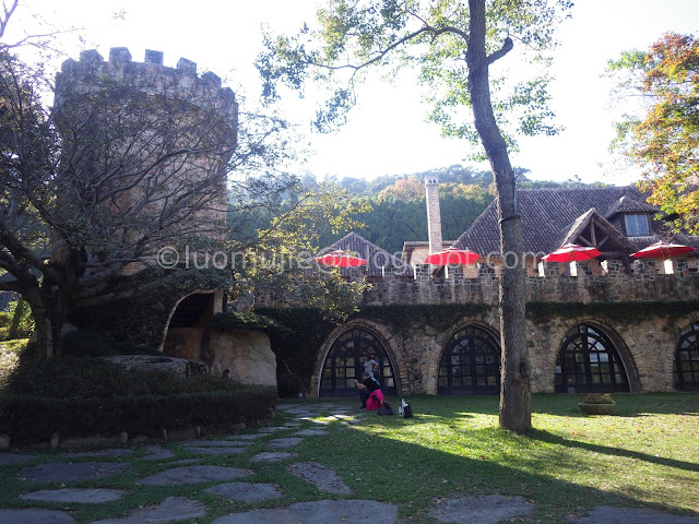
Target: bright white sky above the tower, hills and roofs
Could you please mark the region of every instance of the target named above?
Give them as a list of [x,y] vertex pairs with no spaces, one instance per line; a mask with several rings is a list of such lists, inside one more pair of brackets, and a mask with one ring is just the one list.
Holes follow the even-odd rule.
[[[11,29],[31,32],[38,14],[58,28],[81,27],[61,39],[67,57],[110,47],[128,47],[134,61],[145,49],[165,53],[175,67],[180,57],[213,71],[226,85],[252,99],[259,78],[253,67],[261,49],[262,24],[273,33],[295,33],[313,20],[316,0],[21,0]],[[627,184],[639,170],[611,156],[613,122],[618,105],[611,99],[612,82],[603,78],[608,59],[623,50],[648,49],[662,34],[697,33],[697,0],[578,0],[572,17],[559,29],[561,43],[550,74],[552,107],[557,136],[520,140],[512,164],[531,170],[529,178]],[[82,38],[78,39],[76,35]],[[64,58],[67,58],[64,57]],[[507,57],[506,57],[507,59]],[[472,164],[467,144],[443,139],[437,124],[426,122],[427,106],[408,76],[392,84],[367,82],[347,123],[330,135],[309,138],[313,153],[303,169],[318,178],[334,176],[372,179]],[[283,107],[307,131],[305,117],[312,100],[289,95]],[[487,168],[487,165],[481,167]]]

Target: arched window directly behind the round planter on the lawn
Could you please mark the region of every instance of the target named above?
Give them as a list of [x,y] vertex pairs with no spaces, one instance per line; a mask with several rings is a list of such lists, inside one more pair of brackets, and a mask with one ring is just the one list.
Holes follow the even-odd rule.
[[629,381],[619,354],[602,331],[580,324],[568,332],[556,366],[556,391],[629,391]]

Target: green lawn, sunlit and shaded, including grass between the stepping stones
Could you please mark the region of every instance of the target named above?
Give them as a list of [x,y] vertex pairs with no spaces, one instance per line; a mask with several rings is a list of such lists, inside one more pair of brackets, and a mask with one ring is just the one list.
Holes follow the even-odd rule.
[[[354,489],[352,497],[398,504],[400,523],[433,522],[425,513],[437,498],[491,493],[523,496],[536,503],[530,517],[512,522],[564,523],[567,516],[596,505],[699,514],[699,394],[614,396],[617,415],[583,416],[574,396],[534,395],[535,429],[526,436],[498,428],[496,397],[415,396],[410,398],[415,413],[412,419],[365,413],[360,415],[363,424],[346,427],[330,422],[327,436],[307,437],[291,451],[298,453],[296,462],[317,461],[332,467]],[[399,400],[390,401],[398,405]],[[309,407],[316,402],[358,404],[355,400],[292,401]],[[291,415],[279,412],[274,424],[288,418]],[[279,431],[274,438],[294,431]],[[256,441],[250,453],[269,451],[265,440]],[[176,444],[168,445],[177,458],[192,456]],[[200,463],[250,467],[250,453],[206,456]],[[59,458],[45,453],[40,460]],[[251,467],[254,475],[246,481],[276,484],[285,493],[256,504],[222,501],[201,492],[217,483],[134,489],[139,478],[165,468],[165,464],[133,457],[123,461],[133,464],[115,477],[83,484],[127,489],[130,493],[122,501],[98,508],[60,507],[74,509],[80,524],[116,516],[167,496],[187,496],[206,503],[208,517],[197,520],[204,524],[242,509],[340,498],[319,493],[288,473],[284,463]],[[22,503],[16,497],[56,487],[33,485],[29,489],[16,478],[16,472],[25,466],[0,468],[0,508],[43,505]]]

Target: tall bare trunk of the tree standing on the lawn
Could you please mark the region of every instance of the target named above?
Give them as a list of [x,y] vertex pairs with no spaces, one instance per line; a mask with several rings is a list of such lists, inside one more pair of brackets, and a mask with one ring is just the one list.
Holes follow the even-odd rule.
[[500,228],[500,426],[513,431],[532,427],[530,364],[526,353],[525,281],[522,221],[518,213],[514,171],[500,134],[488,81],[485,50],[485,0],[469,0],[470,27],[466,62],[475,127],[495,178]]

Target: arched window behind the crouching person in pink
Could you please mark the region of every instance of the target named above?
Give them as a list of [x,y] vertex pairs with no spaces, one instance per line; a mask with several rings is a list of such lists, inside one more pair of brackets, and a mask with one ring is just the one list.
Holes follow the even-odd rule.
[[354,379],[360,380],[365,355],[375,355],[379,362],[381,391],[387,395],[396,395],[393,366],[381,342],[369,331],[353,327],[342,333],[333,342],[323,364],[320,378],[320,396],[354,396],[357,390]]

